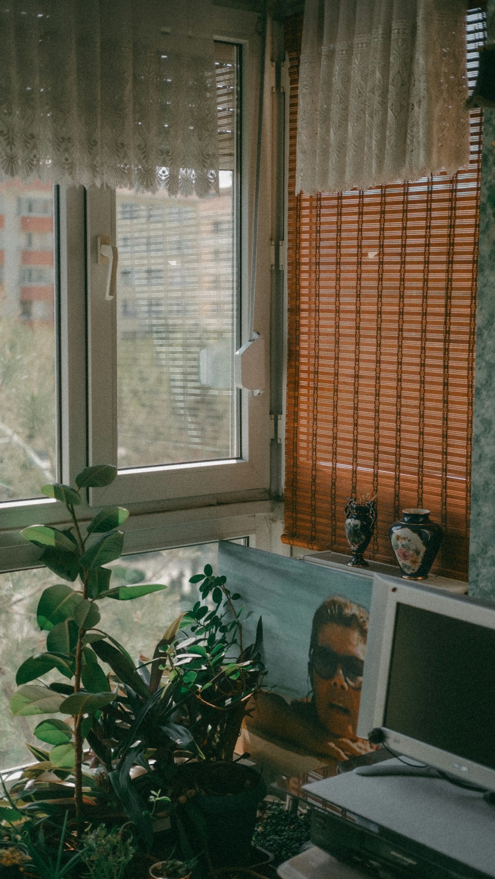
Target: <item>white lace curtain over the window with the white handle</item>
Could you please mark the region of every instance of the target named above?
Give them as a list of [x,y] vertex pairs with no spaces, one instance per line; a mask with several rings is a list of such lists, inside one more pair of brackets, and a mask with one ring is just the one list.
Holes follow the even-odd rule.
[[209,0],[10,0],[0,178],[206,195],[218,187]]

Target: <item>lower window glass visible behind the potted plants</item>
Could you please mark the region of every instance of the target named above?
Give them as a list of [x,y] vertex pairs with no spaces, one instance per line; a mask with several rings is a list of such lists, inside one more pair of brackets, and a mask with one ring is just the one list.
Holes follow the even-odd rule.
[[[164,583],[168,588],[135,601],[102,600],[98,628],[122,643],[135,660],[140,653],[152,656],[171,621],[196,600],[198,587],[190,584],[189,578],[207,563],[216,570],[217,557],[215,542],[119,559],[109,565],[113,568],[112,585]],[[32,762],[25,742],[40,745],[32,731],[41,718],[13,718],[9,702],[16,690],[18,666],[46,649],[36,623],[36,607],[41,592],[57,582],[60,579],[46,568],[0,574],[0,768]]]

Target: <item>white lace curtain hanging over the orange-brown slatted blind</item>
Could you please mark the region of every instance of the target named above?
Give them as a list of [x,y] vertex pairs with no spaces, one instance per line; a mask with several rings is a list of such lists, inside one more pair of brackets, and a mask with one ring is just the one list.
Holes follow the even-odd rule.
[[469,163],[463,0],[306,0],[296,193]]

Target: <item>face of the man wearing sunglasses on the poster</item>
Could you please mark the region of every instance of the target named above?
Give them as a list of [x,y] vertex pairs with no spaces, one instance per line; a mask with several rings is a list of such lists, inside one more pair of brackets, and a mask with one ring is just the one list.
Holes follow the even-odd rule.
[[365,654],[357,628],[335,622],[320,628],[311,657],[313,692],[320,723],[333,736],[356,736]]

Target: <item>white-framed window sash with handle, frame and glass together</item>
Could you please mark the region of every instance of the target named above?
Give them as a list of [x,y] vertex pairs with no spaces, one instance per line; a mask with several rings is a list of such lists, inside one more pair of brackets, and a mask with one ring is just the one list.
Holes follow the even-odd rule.
[[[98,360],[90,386],[91,460],[119,467],[113,486],[94,492],[95,503],[268,487],[268,422],[251,414],[266,413],[267,399],[234,383],[247,280],[242,51],[218,43],[216,53],[218,102],[229,105],[219,194],[91,193],[90,216],[107,218],[120,248],[117,300],[121,286],[128,303],[126,310],[108,307],[100,270],[91,271],[91,357]],[[112,386],[109,374],[116,377]],[[110,411],[113,425],[105,433],[102,419]]]

